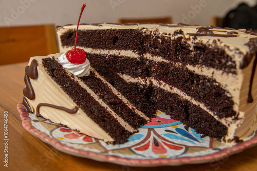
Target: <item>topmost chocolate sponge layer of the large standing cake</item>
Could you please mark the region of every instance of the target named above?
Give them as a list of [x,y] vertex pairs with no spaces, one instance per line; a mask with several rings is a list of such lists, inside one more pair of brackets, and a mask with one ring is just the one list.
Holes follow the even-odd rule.
[[[64,32],[60,37],[62,46],[73,47],[75,37],[75,29]],[[183,36],[172,39],[170,36],[159,34],[157,30],[150,31],[146,28],[79,30],[77,45],[93,49],[131,50],[139,55],[149,53],[171,62],[180,62],[182,65],[206,66],[236,73],[235,61],[223,48],[216,45],[217,42],[195,42],[191,47],[189,40],[191,38]]]

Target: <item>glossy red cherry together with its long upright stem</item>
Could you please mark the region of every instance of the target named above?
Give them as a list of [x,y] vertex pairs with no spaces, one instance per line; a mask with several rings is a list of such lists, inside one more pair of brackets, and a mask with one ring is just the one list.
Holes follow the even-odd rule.
[[73,63],[75,65],[80,65],[80,64],[82,64],[82,63],[84,63],[86,61],[86,53],[85,53],[85,51],[82,50],[82,49],[79,49],[79,48],[76,49],[80,18],[81,18],[82,12],[84,11],[85,7],[86,7],[86,4],[83,4],[82,7],[81,7],[79,21],[78,21],[78,25],[77,25],[74,49],[71,49],[71,50],[69,50],[66,53],[66,56],[67,56],[67,59],[69,60],[69,62]]

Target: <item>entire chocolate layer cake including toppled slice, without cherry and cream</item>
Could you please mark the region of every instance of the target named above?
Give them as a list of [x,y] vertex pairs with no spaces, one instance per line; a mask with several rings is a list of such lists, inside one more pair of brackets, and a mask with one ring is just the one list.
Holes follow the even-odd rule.
[[86,52],[90,74],[79,77],[60,58],[74,47],[76,27],[58,27],[62,53],[30,59],[29,112],[111,143],[126,142],[156,110],[224,142],[241,141],[250,129],[257,102],[254,32],[80,25],[77,46]]

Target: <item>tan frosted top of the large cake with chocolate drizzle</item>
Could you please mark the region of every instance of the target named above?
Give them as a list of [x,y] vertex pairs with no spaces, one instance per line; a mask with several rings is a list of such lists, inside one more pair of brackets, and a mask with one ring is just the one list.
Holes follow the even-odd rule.
[[[59,34],[64,33],[67,29],[76,29],[76,25],[66,25],[57,27]],[[226,45],[236,47],[241,50],[242,53],[246,54],[249,49],[249,39],[257,39],[257,33],[247,31],[246,29],[234,30],[231,28],[219,28],[215,26],[188,26],[188,25],[175,25],[175,24],[82,24],[79,29],[83,30],[103,30],[103,29],[143,29],[158,31],[163,35],[172,35],[175,31],[182,30],[185,36],[200,37],[201,40],[218,40],[224,42]],[[257,42],[257,41],[255,41]],[[257,47],[257,43],[255,43]]]

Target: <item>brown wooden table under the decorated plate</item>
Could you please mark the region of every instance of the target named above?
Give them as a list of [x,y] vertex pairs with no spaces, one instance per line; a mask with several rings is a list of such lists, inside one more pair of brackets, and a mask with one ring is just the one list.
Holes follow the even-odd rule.
[[[27,133],[16,105],[23,98],[27,62],[0,66],[0,170],[257,170],[257,146],[221,161],[162,167],[129,167],[71,156]],[[8,112],[8,168],[4,166],[4,113]]]

